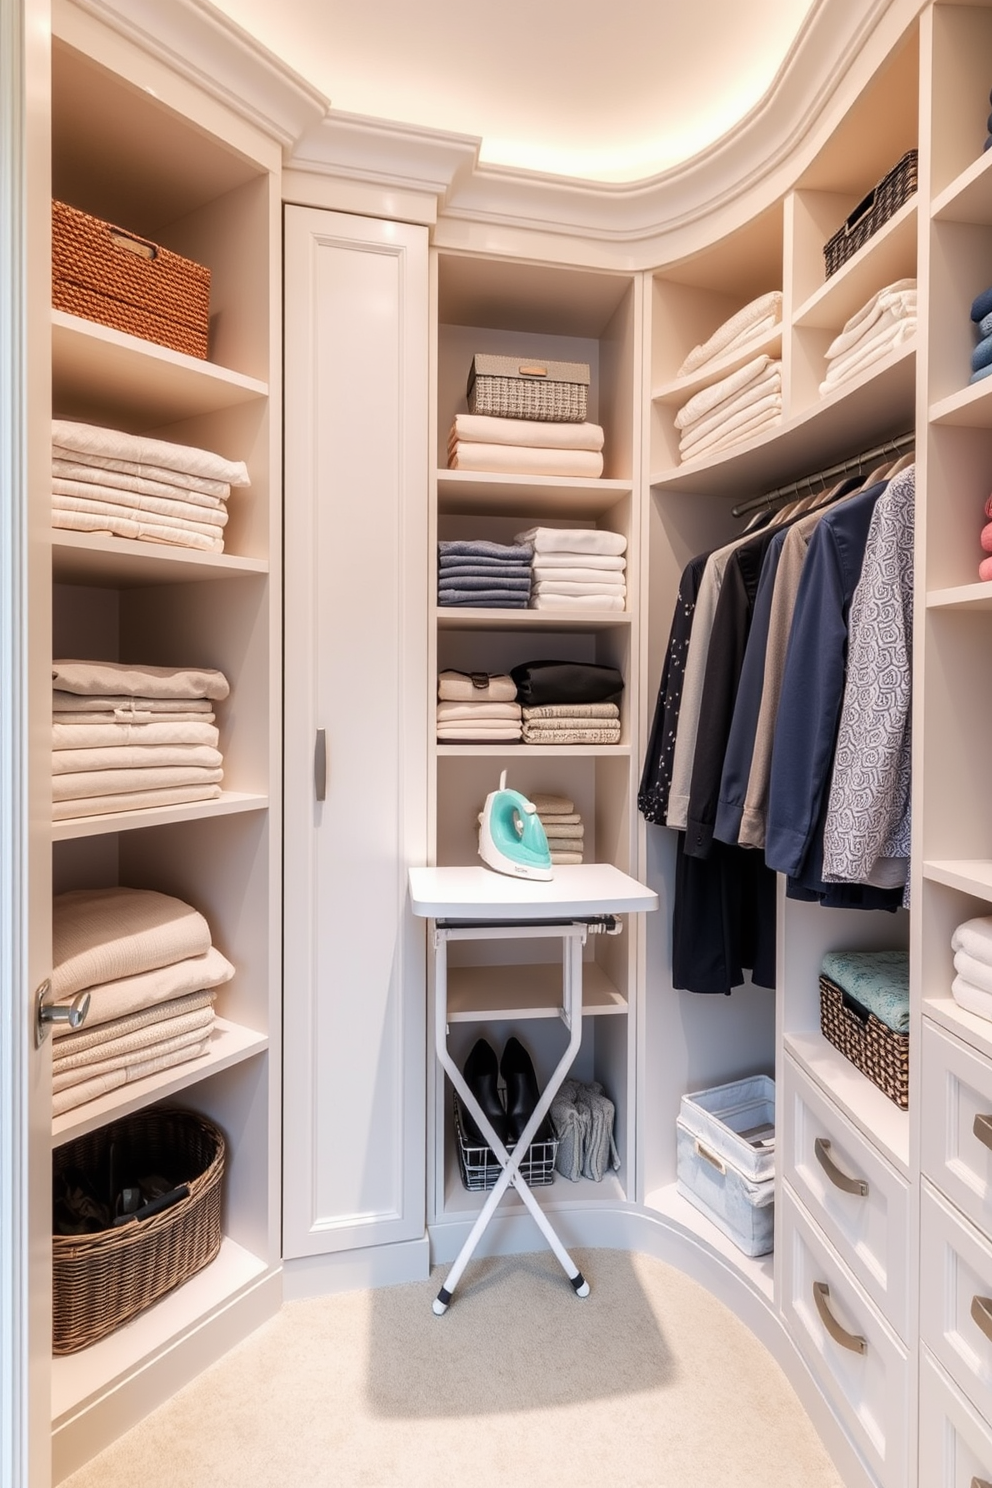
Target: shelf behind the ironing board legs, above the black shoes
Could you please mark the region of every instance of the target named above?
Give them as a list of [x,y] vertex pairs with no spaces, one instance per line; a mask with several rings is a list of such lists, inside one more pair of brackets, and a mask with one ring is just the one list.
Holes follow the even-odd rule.
[[[448,1021],[497,1022],[558,1018],[562,1007],[561,963],[521,966],[449,966]],[[596,961],[582,963],[583,1016],[626,1013],[628,1000]]]

